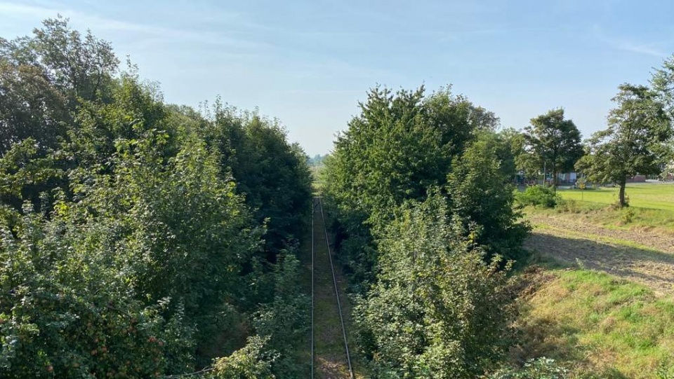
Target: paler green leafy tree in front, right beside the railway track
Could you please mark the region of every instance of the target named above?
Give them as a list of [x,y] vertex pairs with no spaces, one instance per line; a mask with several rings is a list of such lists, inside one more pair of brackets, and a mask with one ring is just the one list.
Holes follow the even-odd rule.
[[505,272],[484,263],[442,195],[405,205],[379,240],[378,282],[357,301],[378,378],[475,378],[505,346]]

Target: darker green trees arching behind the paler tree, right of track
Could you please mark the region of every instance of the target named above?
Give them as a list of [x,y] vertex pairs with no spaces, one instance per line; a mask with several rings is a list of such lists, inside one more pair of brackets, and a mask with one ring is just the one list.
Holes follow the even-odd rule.
[[489,256],[522,256],[527,228],[517,223],[511,173],[501,165],[514,158],[506,140],[494,137],[494,113],[449,89],[425,95],[423,87],[395,94],[374,88],[359,106],[326,160],[324,186],[353,287],[376,280],[376,236],[395,209],[423,201],[431,187],[443,188],[465,226],[476,225],[476,242]]

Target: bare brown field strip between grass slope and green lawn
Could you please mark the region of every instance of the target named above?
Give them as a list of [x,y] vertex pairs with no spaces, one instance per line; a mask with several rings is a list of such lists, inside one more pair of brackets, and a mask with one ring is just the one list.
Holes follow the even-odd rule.
[[529,215],[534,232],[524,246],[568,263],[606,271],[674,294],[674,237],[612,230],[554,216]]

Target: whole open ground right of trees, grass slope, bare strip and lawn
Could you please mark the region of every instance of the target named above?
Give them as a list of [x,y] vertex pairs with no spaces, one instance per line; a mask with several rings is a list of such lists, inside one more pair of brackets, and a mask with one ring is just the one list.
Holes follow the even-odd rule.
[[522,298],[511,359],[551,357],[575,378],[674,378],[674,254],[650,242],[671,240],[674,186],[628,186],[629,223],[607,209],[617,188],[559,193],[576,213],[527,211],[545,269],[524,275],[536,291]]

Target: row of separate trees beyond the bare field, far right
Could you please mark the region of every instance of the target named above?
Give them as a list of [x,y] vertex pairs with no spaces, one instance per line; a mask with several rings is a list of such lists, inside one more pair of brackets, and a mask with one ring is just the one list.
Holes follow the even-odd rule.
[[626,207],[627,180],[637,174],[656,175],[674,161],[674,57],[656,69],[650,85],[619,85],[607,128],[581,142],[581,133],[564,109],[531,119],[523,132],[504,130],[513,143],[515,166],[527,179],[543,169],[557,185],[561,172],[574,171],[596,184],[619,186],[620,207]]

